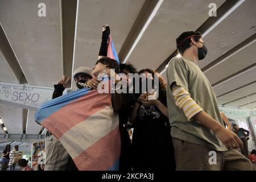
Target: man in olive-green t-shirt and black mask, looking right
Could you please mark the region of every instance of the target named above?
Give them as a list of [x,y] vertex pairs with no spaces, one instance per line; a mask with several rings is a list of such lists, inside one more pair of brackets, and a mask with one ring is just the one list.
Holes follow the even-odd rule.
[[242,141],[224,127],[216,96],[197,65],[207,55],[200,32],[183,32],[176,39],[181,57],[167,68],[167,105],[176,170],[255,169],[237,150]]

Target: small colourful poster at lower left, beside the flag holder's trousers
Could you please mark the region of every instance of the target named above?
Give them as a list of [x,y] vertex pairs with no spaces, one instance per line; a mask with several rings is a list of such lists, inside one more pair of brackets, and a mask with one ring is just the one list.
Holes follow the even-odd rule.
[[44,164],[44,159],[46,157],[45,148],[46,148],[45,141],[36,142],[32,144],[31,167],[34,169],[34,171],[37,171],[39,169],[39,166]]

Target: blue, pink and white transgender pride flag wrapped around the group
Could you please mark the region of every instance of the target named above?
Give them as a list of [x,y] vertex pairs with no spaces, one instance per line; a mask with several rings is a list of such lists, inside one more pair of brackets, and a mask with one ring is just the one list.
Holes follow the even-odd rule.
[[[111,36],[108,44],[108,57],[118,60]],[[44,102],[35,119],[63,144],[79,170],[118,170],[119,117],[110,93],[76,90]]]

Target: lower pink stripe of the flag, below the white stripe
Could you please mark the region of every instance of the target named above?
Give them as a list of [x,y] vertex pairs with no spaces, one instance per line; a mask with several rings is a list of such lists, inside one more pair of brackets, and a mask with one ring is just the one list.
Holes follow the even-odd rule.
[[120,152],[121,139],[118,125],[73,160],[79,170],[104,171],[117,162]]

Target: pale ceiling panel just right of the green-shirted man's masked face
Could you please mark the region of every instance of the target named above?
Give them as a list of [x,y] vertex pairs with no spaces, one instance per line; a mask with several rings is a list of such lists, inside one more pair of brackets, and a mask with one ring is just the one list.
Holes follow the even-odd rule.
[[[246,0],[205,36],[204,40],[209,52],[207,57],[199,63],[200,68],[205,67],[225,52],[236,47],[243,40],[255,34],[255,29],[250,30],[252,26],[256,26],[255,7],[256,1]],[[225,47],[221,48],[221,46]]]

